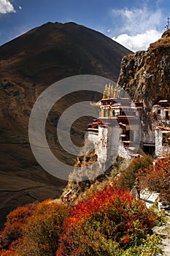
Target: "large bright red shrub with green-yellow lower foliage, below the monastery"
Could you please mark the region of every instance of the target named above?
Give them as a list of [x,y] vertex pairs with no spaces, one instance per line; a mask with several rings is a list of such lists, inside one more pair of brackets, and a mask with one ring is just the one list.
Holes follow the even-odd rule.
[[110,186],[74,206],[56,255],[114,255],[115,246],[140,244],[154,225],[141,200]]

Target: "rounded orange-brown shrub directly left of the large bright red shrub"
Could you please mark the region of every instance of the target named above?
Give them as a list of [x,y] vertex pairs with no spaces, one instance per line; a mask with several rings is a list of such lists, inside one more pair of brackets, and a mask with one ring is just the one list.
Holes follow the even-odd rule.
[[18,255],[55,255],[63,232],[63,219],[68,216],[69,209],[63,204],[51,203],[50,200],[39,203],[24,228],[23,238],[18,243]]

